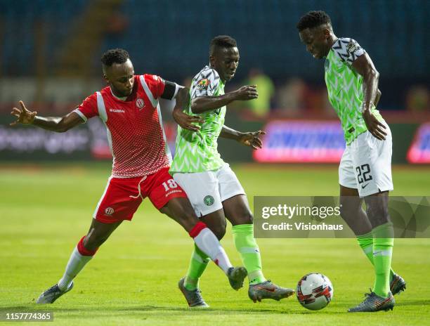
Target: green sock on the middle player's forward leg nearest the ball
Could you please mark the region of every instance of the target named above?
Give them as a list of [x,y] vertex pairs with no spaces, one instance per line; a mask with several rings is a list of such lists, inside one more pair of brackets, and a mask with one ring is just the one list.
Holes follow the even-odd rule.
[[240,224],[233,226],[233,240],[242,262],[247,268],[249,284],[264,282],[259,246],[254,239],[254,225]]

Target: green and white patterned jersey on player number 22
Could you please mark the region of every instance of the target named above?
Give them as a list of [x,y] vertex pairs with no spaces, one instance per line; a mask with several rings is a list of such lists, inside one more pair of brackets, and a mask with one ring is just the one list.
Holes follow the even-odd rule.
[[[351,67],[364,53],[365,50],[354,39],[341,38],[334,42],[325,59],[328,98],[341,120],[347,145],[360,133],[367,131],[362,115],[363,76]],[[379,121],[383,120],[374,106],[372,113]]]

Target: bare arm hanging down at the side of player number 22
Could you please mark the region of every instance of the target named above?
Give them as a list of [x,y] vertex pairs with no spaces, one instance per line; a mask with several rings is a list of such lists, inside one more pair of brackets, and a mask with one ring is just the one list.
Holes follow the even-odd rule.
[[367,129],[372,135],[378,138],[380,141],[385,140],[386,132],[384,131],[385,126],[382,122],[379,122],[376,117],[370,111],[372,106],[377,103],[379,98],[378,95],[378,80],[379,72],[372,63],[372,59],[367,53],[363,56],[359,56],[352,64],[353,69],[363,76],[363,119],[367,126]]

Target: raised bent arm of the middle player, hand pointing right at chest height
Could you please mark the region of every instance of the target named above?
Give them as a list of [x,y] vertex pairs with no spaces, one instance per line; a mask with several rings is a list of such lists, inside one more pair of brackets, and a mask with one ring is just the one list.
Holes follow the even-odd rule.
[[242,86],[236,91],[226,93],[220,96],[199,96],[191,100],[191,111],[193,113],[202,113],[210,110],[217,110],[224,105],[232,103],[234,100],[254,100],[258,98],[259,93],[256,85]]

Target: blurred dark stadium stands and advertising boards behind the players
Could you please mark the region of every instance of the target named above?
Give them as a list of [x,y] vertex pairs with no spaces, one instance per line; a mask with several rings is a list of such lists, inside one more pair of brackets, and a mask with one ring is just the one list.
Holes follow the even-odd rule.
[[[110,159],[97,119],[67,133],[11,128],[24,100],[40,115],[65,115],[105,83],[100,56],[125,48],[136,74],[190,86],[209,41],[230,34],[240,49],[231,91],[257,84],[259,99],[234,103],[226,124],[264,128],[265,148],[220,141],[228,161],[339,162],[344,140],[323,80],[295,27],[324,10],[338,37],[352,37],[380,73],[378,109],[393,131],[393,162],[430,163],[428,0],[0,0],[0,160]],[[166,105],[167,107],[169,105]],[[164,110],[174,147],[176,126]]]

